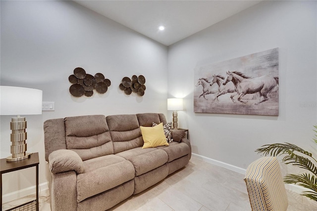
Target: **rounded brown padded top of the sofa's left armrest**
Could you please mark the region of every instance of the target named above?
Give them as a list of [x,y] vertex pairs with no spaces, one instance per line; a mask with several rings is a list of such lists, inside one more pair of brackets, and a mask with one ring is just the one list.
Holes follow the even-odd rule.
[[84,162],[77,153],[72,150],[56,150],[49,155],[50,170],[53,174],[76,171],[84,173]]

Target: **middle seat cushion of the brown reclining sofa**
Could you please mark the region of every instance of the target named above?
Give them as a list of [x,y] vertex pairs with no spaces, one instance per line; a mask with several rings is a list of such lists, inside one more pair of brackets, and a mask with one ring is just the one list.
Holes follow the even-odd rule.
[[134,165],[135,176],[147,173],[167,162],[167,154],[163,150],[155,150],[128,159]]

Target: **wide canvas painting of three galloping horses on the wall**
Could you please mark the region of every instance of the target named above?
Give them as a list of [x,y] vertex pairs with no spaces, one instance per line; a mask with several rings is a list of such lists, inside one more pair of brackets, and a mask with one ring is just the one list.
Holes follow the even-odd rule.
[[277,116],[278,65],[278,48],[199,62],[194,70],[194,112]]

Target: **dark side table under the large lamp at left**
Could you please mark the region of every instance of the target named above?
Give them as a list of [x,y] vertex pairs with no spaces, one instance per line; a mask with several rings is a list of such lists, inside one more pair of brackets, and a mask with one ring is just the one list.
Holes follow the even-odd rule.
[[[36,166],[36,211],[39,211],[39,153],[33,153],[30,158],[22,159],[19,161],[13,161],[13,162],[7,162],[6,158],[2,158],[0,161],[0,168],[1,168],[1,174],[0,174],[0,182],[1,182],[1,197],[0,197],[0,211],[2,211],[2,174],[21,170],[24,168],[30,168]],[[33,201],[27,202],[23,205],[19,205],[15,208],[11,208],[9,210],[14,210],[16,208],[19,208],[21,206],[25,206],[27,204],[33,203]]]

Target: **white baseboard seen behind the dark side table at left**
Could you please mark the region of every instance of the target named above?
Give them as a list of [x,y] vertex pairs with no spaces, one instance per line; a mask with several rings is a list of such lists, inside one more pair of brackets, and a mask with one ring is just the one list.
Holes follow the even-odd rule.
[[[49,189],[48,182],[44,182],[44,183],[39,184],[39,191],[41,190],[41,192],[44,192],[48,189]],[[18,191],[7,193],[7,194],[4,194],[2,196],[2,203],[7,203],[7,202],[10,202],[13,200],[17,200],[17,199],[20,199],[22,197],[29,196],[29,195],[35,194],[35,193],[36,193],[36,186],[35,185],[28,187],[28,188],[18,190]],[[40,196],[40,193],[39,193],[39,196]]]

